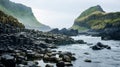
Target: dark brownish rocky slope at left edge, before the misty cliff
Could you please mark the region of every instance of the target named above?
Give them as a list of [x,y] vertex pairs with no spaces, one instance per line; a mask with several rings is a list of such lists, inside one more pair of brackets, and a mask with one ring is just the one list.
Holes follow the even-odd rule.
[[0,34],[12,33],[16,29],[24,29],[25,26],[13,16],[9,16],[0,11]]

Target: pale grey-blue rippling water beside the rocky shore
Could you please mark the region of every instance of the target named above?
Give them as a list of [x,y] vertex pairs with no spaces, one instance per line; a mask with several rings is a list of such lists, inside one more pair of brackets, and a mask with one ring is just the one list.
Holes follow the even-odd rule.
[[[116,40],[101,40],[101,37],[92,37],[86,35],[79,35],[72,37],[75,40],[84,40],[88,44],[70,44],[65,46],[58,46],[57,51],[69,51],[75,53],[76,61],[73,61],[73,67],[120,67],[120,41]],[[90,46],[101,42],[105,45],[111,46],[111,50],[92,50]],[[88,54],[85,54],[88,53]],[[84,62],[89,59],[92,62]],[[39,65],[45,67],[42,60]],[[56,64],[53,64],[56,67]]]

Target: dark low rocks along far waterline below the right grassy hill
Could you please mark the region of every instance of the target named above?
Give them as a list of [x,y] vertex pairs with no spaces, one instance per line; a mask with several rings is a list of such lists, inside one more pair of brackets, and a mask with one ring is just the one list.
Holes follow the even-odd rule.
[[79,35],[101,36],[102,40],[120,40],[120,28],[106,28],[103,30],[89,30]]

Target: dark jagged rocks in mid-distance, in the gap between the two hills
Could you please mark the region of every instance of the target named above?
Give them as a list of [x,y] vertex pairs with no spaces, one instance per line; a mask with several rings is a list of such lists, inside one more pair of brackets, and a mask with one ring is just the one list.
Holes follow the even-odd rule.
[[54,33],[54,34],[67,35],[67,36],[77,36],[78,35],[78,31],[77,30],[66,29],[66,28],[63,28],[61,30],[59,30],[58,28],[56,28],[56,29],[52,29],[49,32]]

